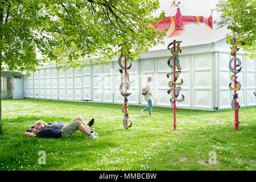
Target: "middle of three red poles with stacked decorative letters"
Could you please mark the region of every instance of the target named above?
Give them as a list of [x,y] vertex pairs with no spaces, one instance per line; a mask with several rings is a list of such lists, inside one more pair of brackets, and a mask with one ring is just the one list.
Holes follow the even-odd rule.
[[[167,47],[167,49],[168,50],[170,50],[171,49],[171,53],[172,53],[172,55],[173,56],[171,56],[169,59],[168,59],[168,66],[170,67],[170,68],[173,68],[173,72],[171,72],[171,73],[168,73],[167,74],[167,77],[169,78],[170,77],[170,75],[174,75],[174,80],[173,81],[170,81],[169,82],[169,87],[171,87],[171,89],[169,89],[168,91],[167,91],[167,93],[168,94],[170,94],[172,91],[174,92],[174,97],[172,97],[171,99],[170,99],[170,102],[172,103],[172,104],[174,104],[174,107],[173,107],[173,109],[174,109],[174,130],[177,130],[177,125],[176,125],[176,109],[177,109],[177,107],[176,107],[176,101],[177,102],[182,102],[182,101],[184,101],[184,96],[183,96],[183,94],[181,94],[181,98],[180,99],[178,99],[177,97],[179,97],[179,94],[180,94],[180,90],[181,90],[181,87],[180,86],[177,86],[176,87],[176,85],[182,85],[183,84],[183,80],[181,79],[181,81],[180,82],[177,82],[177,78],[179,78],[179,75],[180,75],[180,73],[181,73],[181,67],[180,67],[180,61],[179,61],[179,55],[177,55],[178,53],[181,53],[181,49],[180,49],[180,43],[181,43],[182,41],[176,41],[176,40],[174,40],[174,42],[172,42],[172,43],[170,43],[169,45],[168,45],[168,47]],[[172,48],[170,48],[170,46],[172,45],[172,44],[174,44],[174,46],[172,47]],[[176,44],[177,44],[177,46],[176,46]],[[172,61],[173,60],[173,61]],[[171,64],[171,61],[172,61],[172,63],[173,64]],[[177,67],[177,69],[179,69],[179,71],[176,71],[175,70],[175,68]],[[176,92],[177,91],[177,92]]]

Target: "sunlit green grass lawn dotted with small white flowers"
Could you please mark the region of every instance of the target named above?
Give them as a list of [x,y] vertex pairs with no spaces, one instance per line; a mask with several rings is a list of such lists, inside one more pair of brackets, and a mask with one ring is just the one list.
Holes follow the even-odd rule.
[[[171,108],[153,107],[155,117],[141,115],[144,106],[129,106],[133,126],[122,126],[121,105],[51,100],[3,100],[0,170],[256,170],[256,107],[234,110],[177,110],[173,131]],[[78,131],[72,138],[23,136],[34,122],[68,122],[81,115],[99,139]],[[46,164],[38,164],[46,151]],[[217,164],[209,164],[209,152]]]

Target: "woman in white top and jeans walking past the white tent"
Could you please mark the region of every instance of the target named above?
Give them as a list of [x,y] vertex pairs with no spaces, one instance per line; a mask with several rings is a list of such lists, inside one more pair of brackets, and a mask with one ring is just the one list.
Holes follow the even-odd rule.
[[147,110],[148,109],[148,113],[150,114],[150,116],[154,116],[154,115],[152,115],[152,113],[151,113],[151,108],[152,108],[152,99],[154,99],[155,100],[155,97],[154,97],[154,95],[153,95],[153,93],[152,93],[152,90],[151,90],[151,82],[153,81],[153,78],[152,77],[147,77],[147,84],[146,84],[146,92],[147,92],[147,94],[144,96],[144,98],[145,98],[145,100],[147,101],[147,104],[148,104],[148,106],[147,107],[145,107],[143,110],[141,110],[141,112],[142,112],[142,114],[143,115],[145,115],[144,114],[144,111],[145,110]]

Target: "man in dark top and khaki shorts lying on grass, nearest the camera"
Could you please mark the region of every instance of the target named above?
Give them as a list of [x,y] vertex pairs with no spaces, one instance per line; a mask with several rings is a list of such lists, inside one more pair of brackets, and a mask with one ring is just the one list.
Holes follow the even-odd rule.
[[[89,125],[90,123],[92,123],[92,121],[94,123],[94,119],[92,119],[91,122],[89,122]],[[53,124],[53,125],[57,126],[58,124]],[[38,137],[38,138],[60,138],[60,137],[64,138],[64,137],[72,137],[77,130],[80,130],[82,133],[88,135],[89,138],[92,138],[92,139],[98,138],[96,136],[97,133],[95,133],[92,129],[90,129],[90,127],[85,123],[84,119],[82,119],[81,116],[73,118],[70,122],[65,123],[62,128],[58,128],[58,127],[53,128],[48,126],[51,126],[51,125],[47,125],[43,121],[37,121],[26,132],[24,132],[24,136]]]

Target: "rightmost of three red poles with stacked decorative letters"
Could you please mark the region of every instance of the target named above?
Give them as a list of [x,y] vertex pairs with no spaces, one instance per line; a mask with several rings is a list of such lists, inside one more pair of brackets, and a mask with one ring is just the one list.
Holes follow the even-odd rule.
[[[229,84],[229,89],[230,90],[234,90],[234,94],[233,94],[233,100],[231,103],[232,108],[234,109],[234,128],[235,130],[238,130],[238,125],[239,125],[239,121],[238,121],[238,113],[239,113],[239,102],[237,102],[237,98],[238,98],[238,94],[237,94],[237,90],[240,90],[241,88],[241,84],[240,82],[237,81],[237,73],[239,73],[242,69],[241,66],[241,60],[238,59],[236,57],[236,52],[239,51],[240,48],[237,48],[236,45],[245,45],[245,43],[243,42],[236,42],[236,38],[233,39],[233,41],[231,42],[231,44],[233,44],[233,47],[231,48],[231,55],[233,56],[233,59],[230,60],[229,62],[229,69],[230,71],[232,71],[234,74],[231,76],[231,80],[234,81],[234,88],[232,88],[232,83]],[[234,68],[232,68],[232,61],[234,61]],[[238,61],[238,64],[237,64]],[[237,67],[240,67],[239,69],[237,69]]]

